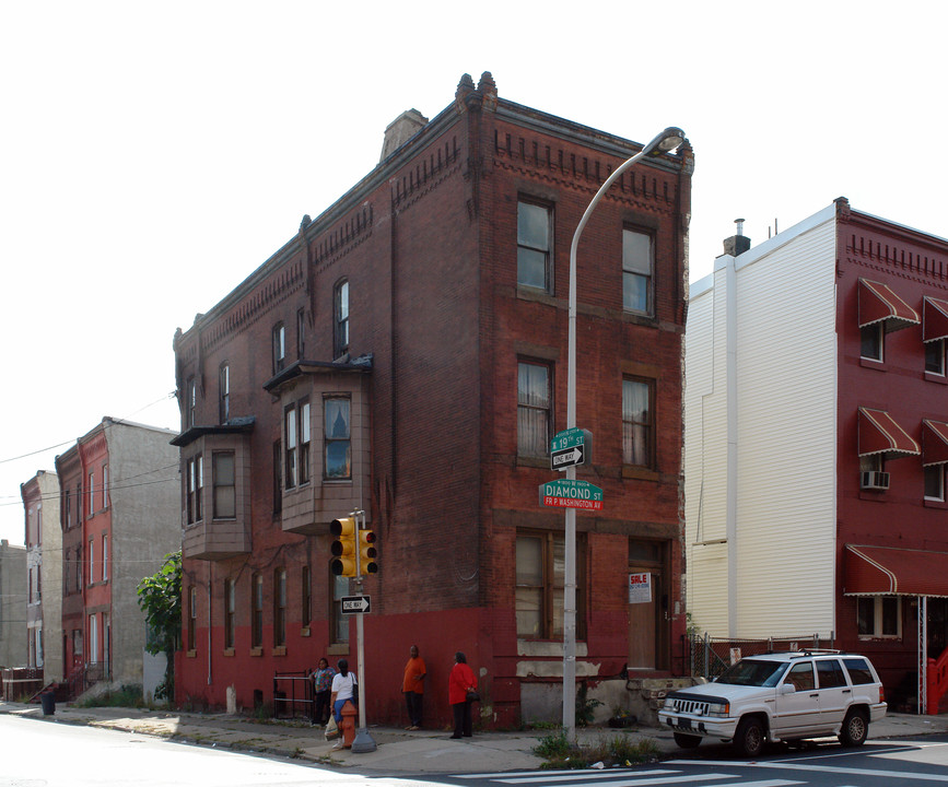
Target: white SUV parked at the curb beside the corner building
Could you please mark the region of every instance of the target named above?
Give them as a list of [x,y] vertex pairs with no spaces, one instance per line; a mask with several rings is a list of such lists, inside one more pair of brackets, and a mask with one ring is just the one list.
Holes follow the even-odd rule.
[[669,693],[658,719],[682,749],[718,738],[757,756],[766,741],[838,736],[862,745],[869,723],[885,715],[869,659],[814,650],[748,656],[713,683]]

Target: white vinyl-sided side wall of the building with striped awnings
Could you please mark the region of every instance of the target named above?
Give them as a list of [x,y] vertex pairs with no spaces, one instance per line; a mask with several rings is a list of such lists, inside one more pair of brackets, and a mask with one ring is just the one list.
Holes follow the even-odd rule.
[[691,287],[688,609],[712,636],[831,636],[836,475],[830,208]]

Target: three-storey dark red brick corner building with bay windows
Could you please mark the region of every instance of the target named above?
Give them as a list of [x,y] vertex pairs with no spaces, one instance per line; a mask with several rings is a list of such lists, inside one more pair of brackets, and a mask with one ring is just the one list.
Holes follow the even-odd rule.
[[[329,522],[378,535],[365,580],[367,712],[403,714],[409,646],[445,720],[464,650],[482,721],[555,718],[563,513],[539,504],[565,425],[569,249],[641,145],[502,99],[465,75],[430,122],[175,338],[185,648],[177,698],[269,702],[277,672],[355,659]],[[578,250],[577,676],[667,674],[681,609],[681,338],[692,154],[651,156]],[[630,574],[648,599],[630,603]],[[622,688],[624,689],[624,682]]]

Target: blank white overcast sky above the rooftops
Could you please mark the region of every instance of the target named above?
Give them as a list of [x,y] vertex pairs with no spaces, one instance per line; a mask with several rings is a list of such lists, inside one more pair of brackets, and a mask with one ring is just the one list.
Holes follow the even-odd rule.
[[104,415],[177,428],[175,328],[465,72],[637,142],[683,128],[692,280],[736,218],[757,244],[839,196],[948,236],[946,22],[940,0],[0,0],[0,538]]

